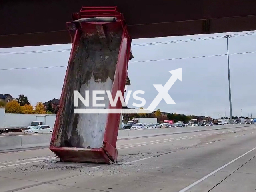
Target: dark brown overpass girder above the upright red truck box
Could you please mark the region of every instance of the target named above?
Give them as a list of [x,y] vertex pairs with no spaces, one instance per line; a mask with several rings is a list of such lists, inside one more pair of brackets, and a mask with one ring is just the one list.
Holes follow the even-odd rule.
[[70,43],[82,6],[117,6],[133,39],[256,30],[254,0],[12,0],[0,4],[0,48]]

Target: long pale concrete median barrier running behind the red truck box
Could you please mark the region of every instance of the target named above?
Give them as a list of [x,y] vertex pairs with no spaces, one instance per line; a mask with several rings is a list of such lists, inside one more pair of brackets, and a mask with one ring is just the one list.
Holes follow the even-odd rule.
[[[196,126],[196,127],[177,127],[177,128],[151,128],[141,130],[120,130],[118,139],[139,138],[146,136],[158,136],[176,133],[197,132],[206,130],[220,130],[227,128],[245,128],[256,126],[255,124],[241,125],[220,125],[220,126]],[[18,136],[0,137],[0,150],[12,150],[20,148],[49,146],[52,134],[34,134]]]

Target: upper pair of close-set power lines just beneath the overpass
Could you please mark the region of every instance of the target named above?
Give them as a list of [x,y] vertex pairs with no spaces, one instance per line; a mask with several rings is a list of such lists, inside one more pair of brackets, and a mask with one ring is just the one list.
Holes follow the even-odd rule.
[[[233,37],[238,36],[246,36],[246,35],[255,35],[256,32],[248,32],[248,33],[240,33],[234,34]],[[182,43],[182,42],[194,42],[201,40],[212,40],[223,38],[223,36],[214,36],[214,37],[205,37],[205,38],[192,38],[192,39],[184,39],[184,40],[174,40],[174,41],[164,41],[164,42],[152,42],[152,43],[142,43],[142,44],[134,44],[132,47],[137,46],[148,46],[148,45],[160,45],[160,44],[171,44],[171,43]],[[17,51],[17,52],[0,52],[0,55],[10,55],[10,54],[31,54],[31,53],[51,53],[51,52],[66,52],[70,51],[70,49],[56,49],[56,50],[36,50],[36,51]]]

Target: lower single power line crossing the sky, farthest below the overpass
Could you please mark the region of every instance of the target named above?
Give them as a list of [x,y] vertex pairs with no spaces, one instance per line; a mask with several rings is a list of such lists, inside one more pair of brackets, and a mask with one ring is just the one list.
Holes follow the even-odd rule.
[[[241,53],[231,53],[229,55],[237,55],[237,54],[249,54],[256,53],[256,51],[252,52],[241,52]],[[132,61],[130,63],[140,63],[140,62],[153,62],[153,61],[166,61],[166,60],[178,60],[178,59],[194,59],[194,58],[205,58],[205,57],[216,57],[216,56],[225,56],[227,54],[218,54],[218,55],[205,55],[205,56],[194,56],[194,57],[182,57],[182,58],[169,58],[169,59],[157,59],[157,60],[144,60],[144,61]],[[49,67],[28,67],[28,68],[6,68],[0,70],[22,70],[22,69],[42,69],[42,68],[61,68],[67,66],[49,66]]]

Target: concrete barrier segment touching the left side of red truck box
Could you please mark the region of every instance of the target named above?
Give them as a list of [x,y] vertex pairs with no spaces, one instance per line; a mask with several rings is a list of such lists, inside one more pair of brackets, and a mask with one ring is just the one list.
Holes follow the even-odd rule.
[[[22,148],[49,146],[52,134],[22,135]],[[0,138],[1,139],[1,138]]]

